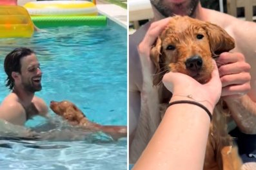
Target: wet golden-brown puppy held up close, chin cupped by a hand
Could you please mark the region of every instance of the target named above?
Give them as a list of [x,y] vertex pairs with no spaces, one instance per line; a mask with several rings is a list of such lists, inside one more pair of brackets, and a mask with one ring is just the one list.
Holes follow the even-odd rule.
[[[157,101],[155,103],[155,101],[152,102],[152,98],[144,97],[146,102],[141,104],[139,124],[130,150],[132,162],[139,157],[155,131],[149,128],[148,124],[157,124],[159,120],[161,121],[161,114],[165,112],[172,98],[172,94],[162,85],[164,74],[169,71],[181,72],[200,83],[206,83],[211,79],[213,71],[212,58],[217,58],[222,52],[230,51],[234,47],[233,38],[215,24],[190,17],[175,16],[170,19],[170,23],[157,38],[150,52],[155,72],[143,72],[143,83],[152,81],[152,87],[146,86],[143,96],[153,96],[155,93],[157,94],[155,98],[158,98],[155,99]],[[145,65],[142,61],[143,69],[146,69]],[[184,94],[184,99],[192,97]],[[154,113],[152,110],[155,110]],[[237,148],[233,146],[233,140],[228,135],[226,121],[228,108],[224,101],[219,101],[213,112],[204,170],[239,170],[242,162]],[[157,117],[157,121],[152,120],[152,117],[154,119]]]

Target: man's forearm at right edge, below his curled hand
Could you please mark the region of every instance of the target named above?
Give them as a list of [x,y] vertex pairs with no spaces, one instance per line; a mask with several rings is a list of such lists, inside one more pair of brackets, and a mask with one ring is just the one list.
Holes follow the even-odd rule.
[[256,104],[247,96],[226,99],[231,116],[243,133],[256,133]]

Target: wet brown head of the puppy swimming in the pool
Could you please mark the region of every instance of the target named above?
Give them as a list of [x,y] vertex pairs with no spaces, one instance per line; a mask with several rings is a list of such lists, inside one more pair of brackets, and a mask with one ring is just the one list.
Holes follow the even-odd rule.
[[51,101],[50,108],[55,114],[60,115],[72,124],[79,124],[85,117],[83,112],[81,112],[81,110],[79,110],[79,108],[70,101]]

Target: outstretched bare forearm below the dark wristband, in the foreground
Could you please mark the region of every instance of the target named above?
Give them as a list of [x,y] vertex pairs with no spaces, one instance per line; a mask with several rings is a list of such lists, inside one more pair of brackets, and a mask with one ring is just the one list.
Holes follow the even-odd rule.
[[199,106],[170,106],[133,169],[202,169],[209,126]]

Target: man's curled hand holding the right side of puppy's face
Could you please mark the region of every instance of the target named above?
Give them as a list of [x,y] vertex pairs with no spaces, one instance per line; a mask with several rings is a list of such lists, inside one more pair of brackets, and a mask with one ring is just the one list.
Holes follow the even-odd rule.
[[240,98],[250,89],[250,65],[241,53],[222,53],[217,60],[224,100]]

